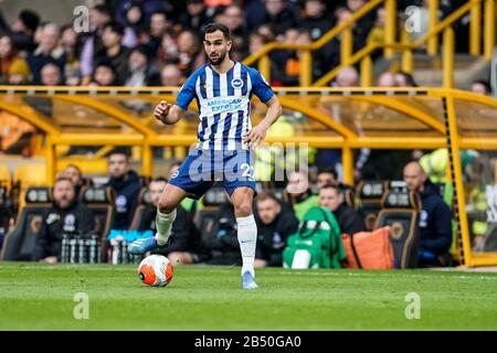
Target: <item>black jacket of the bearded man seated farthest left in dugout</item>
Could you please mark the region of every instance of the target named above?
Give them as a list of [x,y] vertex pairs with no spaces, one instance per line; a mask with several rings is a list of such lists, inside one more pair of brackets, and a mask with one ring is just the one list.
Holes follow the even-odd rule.
[[49,256],[61,257],[63,235],[80,232],[87,235],[94,228],[92,211],[78,201],[74,201],[67,208],[53,205],[44,215],[40,233],[34,245],[33,260]]

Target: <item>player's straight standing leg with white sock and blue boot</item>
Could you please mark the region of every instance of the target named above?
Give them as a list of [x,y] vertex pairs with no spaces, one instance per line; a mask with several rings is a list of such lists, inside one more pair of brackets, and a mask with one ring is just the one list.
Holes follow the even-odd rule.
[[254,190],[239,186],[231,194],[237,225],[237,238],[242,253],[242,285],[245,289],[257,288],[254,281],[255,245],[257,240],[257,225],[252,213]]

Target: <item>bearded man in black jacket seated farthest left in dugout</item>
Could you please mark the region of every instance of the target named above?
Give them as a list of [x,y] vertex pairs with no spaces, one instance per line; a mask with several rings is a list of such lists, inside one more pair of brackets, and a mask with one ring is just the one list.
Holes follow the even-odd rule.
[[59,178],[53,185],[53,206],[43,216],[36,236],[33,260],[56,264],[61,260],[64,234],[80,232],[87,235],[94,228],[92,211],[81,203],[67,178]]

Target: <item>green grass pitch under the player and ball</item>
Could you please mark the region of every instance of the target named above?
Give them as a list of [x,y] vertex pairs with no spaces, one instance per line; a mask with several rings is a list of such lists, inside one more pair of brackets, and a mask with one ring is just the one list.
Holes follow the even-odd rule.
[[[136,266],[0,264],[0,330],[496,330],[497,274],[176,267],[166,288]],[[73,315],[88,296],[87,320]],[[421,318],[408,320],[420,296]],[[409,310],[409,312],[412,312]]]

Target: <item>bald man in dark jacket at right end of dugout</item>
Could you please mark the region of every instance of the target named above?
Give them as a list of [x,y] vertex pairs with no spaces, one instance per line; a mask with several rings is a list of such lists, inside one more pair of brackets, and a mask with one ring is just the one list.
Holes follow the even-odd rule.
[[452,244],[451,210],[419,162],[404,167],[404,181],[410,191],[421,193],[420,213],[420,267],[447,266],[451,264],[448,249]]

